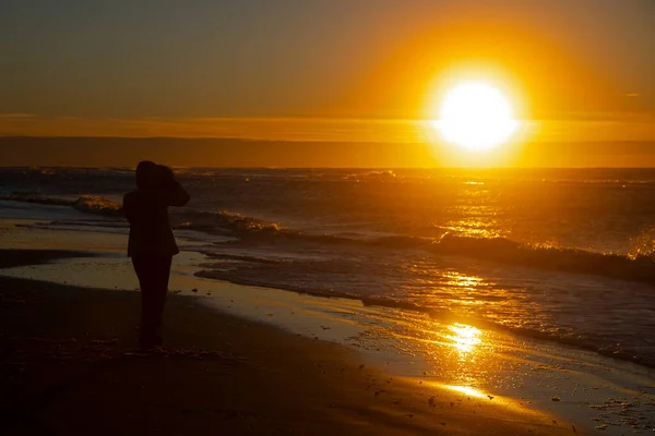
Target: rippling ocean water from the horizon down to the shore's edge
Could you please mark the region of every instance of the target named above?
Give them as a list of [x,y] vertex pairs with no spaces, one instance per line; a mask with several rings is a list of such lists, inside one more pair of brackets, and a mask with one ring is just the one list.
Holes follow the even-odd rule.
[[[199,276],[360,300],[655,367],[655,170],[176,170]],[[0,218],[127,233],[120,168],[0,169]]]

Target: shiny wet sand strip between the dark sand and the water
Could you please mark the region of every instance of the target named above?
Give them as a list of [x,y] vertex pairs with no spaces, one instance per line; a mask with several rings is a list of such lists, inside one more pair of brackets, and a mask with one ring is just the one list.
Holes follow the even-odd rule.
[[[64,239],[69,243],[67,247],[78,247],[81,244],[74,238],[85,238],[79,232],[73,239],[63,232],[50,233],[55,238],[53,246],[59,246],[56,239]],[[107,235],[102,238],[108,241]],[[87,239],[84,242],[87,246],[92,243]],[[117,249],[121,243],[116,243]],[[25,242],[19,246],[39,245]],[[61,284],[70,280],[68,284],[75,284],[78,280],[82,288],[99,283],[106,289],[110,288],[106,283],[112,283],[116,289],[133,290],[133,274],[124,254],[119,253],[122,246],[120,249],[109,247],[104,252],[105,256],[95,258],[66,258],[38,267],[5,269],[2,275],[22,271],[25,277],[46,277],[50,283],[39,283],[48,289],[59,286],[51,282]],[[514,413],[516,416],[525,413],[549,416],[546,424],[553,427],[569,425],[568,432],[575,425],[577,433],[600,427],[605,434],[619,435],[632,429],[626,428],[632,421],[620,420],[634,420],[641,431],[655,422],[653,374],[643,373],[638,366],[615,363],[595,353],[562,346],[523,341],[491,330],[478,331],[479,336],[474,338],[453,337],[453,325],[443,324],[443,320],[426,319],[407,311],[364,306],[354,300],[313,298],[277,289],[202,280],[193,276],[196,269],[190,265],[199,261],[193,256],[198,253],[183,252],[176,256],[178,262],[171,276],[176,287],[171,289],[186,291],[174,294],[174,299],[194,298],[198,308],[209,310],[216,319],[236,316],[239,323],[273,328],[294,339],[309,339],[311,343],[331,347],[346,346],[341,348],[355,356],[346,361],[356,359],[367,368],[382,368],[389,375],[380,379],[393,377],[394,383],[403,382],[419,408],[427,400],[415,398],[420,393],[416,392],[417,387],[429,387],[441,392],[443,398],[486,399],[489,403],[481,404],[499,408],[500,412],[495,412],[498,415],[512,410],[505,416],[510,422],[513,422]],[[198,288],[196,292],[189,291],[192,288]],[[96,292],[111,293],[110,290],[85,292],[94,292],[94,295],[98,295]],[[131,291],[122,293],[132,294],[132,298],[138,295]],[[408,341],[407,334],[419,337]],[[376,391],[379,390],[389,389],[383,385]],[[409,400],[403,402],[407,404]],[[450,402],[455,407],[458,403],[449,401],[446,405]],[[417,416],[417,413],[409,414]]]

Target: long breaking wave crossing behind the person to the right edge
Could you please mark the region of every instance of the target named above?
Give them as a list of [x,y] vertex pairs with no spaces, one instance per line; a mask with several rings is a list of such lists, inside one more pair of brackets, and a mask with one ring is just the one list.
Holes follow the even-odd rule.
[[[28,194],[0,196],[44,205],[70,206],[76,210],[104,217],[122,216],[122,206],[97,195],[81,195],[75,199]],[[283,228],[279,223],[228,211],[182,210],[171,214],[174,228],[196,230],[211,234],[257,242],[272,239],[288,243],[347,245],[374,250],[421,250],[436,255],[458,255],[493,263],[572,274],[586,274],[619,280],[655,283],[653,250],[638,250],[633,254],[598,253],[528,244],[508,238],[472,238],[445,233],[439,239],[413,235],[358,238],[344,234],[310,234]]]

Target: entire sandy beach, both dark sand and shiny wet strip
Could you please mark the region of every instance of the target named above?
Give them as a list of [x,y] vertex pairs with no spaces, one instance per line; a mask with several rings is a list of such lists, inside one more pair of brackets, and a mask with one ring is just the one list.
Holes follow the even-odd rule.
[[[11,244],[28,242],[13,234]],[[50,238],[59,245],[66,235]],[[45,246],[0,253],[7,434],[622,434],[652,422],[653,392],[634,390],[648,388],[648,373],[491,331],[480,334],[488,346],[464,336],[407,349],[400,336],[373,339],[373,326],[334,316],[349,302],[273,289],[174,289],[166,351],[144,354],[133,348],[138,292],[97,289],[110,277],[133,280],[124,257]],[[189,279],[183,268],[174,286]],[[63,284],[83,281],[84,270],[95,288]],[[374,324],[377,308],[360,308]],[[477,358],[466,358],[476,347]]]

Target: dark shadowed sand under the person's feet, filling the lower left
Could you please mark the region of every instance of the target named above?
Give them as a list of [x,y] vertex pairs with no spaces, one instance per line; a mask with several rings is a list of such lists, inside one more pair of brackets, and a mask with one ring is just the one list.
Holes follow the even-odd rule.
[[[43,254],[22,252],[21,263],[53,258]],[[147,355],[132,350],[135,292],[0,278],[0,293],[2,434],[583,433],[493,398],[394,378],[350,349],[194,296],[170,296],[168,351]]]

